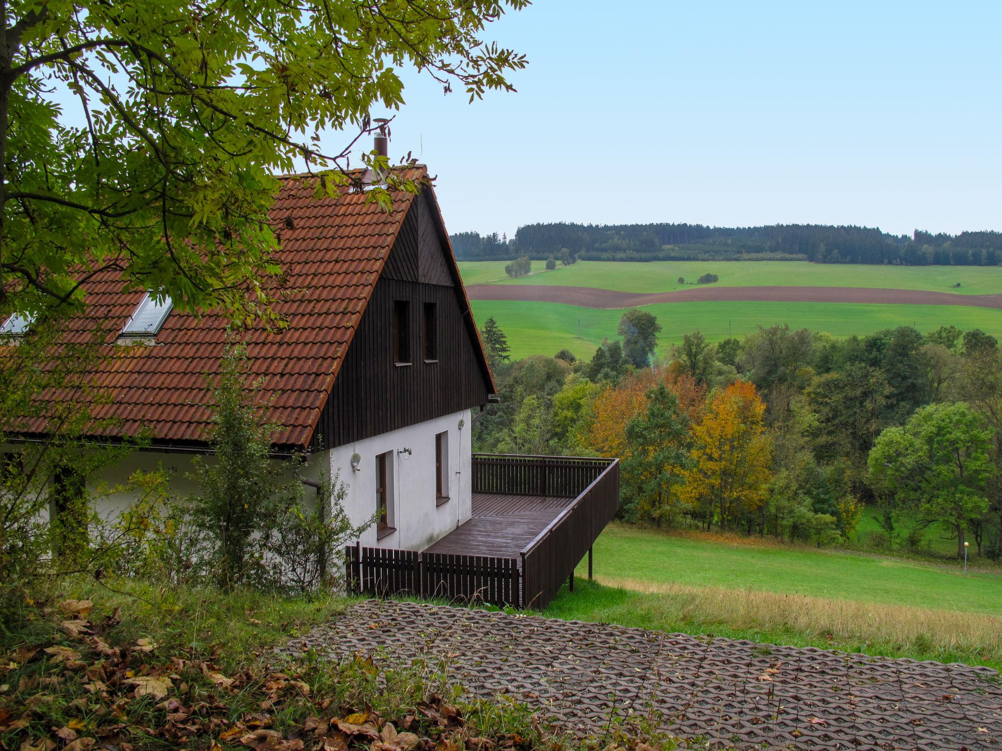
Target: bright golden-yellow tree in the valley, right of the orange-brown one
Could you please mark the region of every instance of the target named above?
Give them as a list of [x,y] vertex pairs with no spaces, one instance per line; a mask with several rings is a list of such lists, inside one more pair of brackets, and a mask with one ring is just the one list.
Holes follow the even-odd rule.
[[735,529],[762,506],[772,457],[765,412],[755,385],[738,381],[712,395],[692,428],[690,467],[678,492],[707,530],[714,519]]

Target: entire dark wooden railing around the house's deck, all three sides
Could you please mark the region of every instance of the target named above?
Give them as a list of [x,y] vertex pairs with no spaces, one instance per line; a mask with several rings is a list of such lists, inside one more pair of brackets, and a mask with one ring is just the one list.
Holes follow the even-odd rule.
[[619,460],[474,454],[473,492],[574,500],[519,558],[349,546],[349,591],[542,610],[619,508]]

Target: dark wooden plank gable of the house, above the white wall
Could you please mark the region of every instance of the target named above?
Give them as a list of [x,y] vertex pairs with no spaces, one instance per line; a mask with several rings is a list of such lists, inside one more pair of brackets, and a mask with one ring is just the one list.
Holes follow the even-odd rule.
[[[315,448],[344,446],[487,402],[480,344],[433,210],[423,194],[404,218],[321,415]],[[393,355],[397,300],[407,300],[410,309],[406,365]],[[435,305],[435,361],[422,357],[426,303]]]

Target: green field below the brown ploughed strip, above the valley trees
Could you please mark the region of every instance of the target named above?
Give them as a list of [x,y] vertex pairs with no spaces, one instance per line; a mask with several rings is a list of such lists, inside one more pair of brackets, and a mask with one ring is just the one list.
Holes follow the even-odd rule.
[[[649,265],[649,264],[645,264]],[[602,338],[615,338],[622,310],[566,305],[560,302],[523,300],[473,300],[478,324],[494,316],[508,336],[512,357],[555,354],[570,349],[590,358]],[[1002,338],[1002,312],[959,305],[891,305],[857,302],[662,302],[644,305],[662,326],[658,344],[665,349],[681,341],[682,334],[696,329],[710,341],[725,338],[728,331],[743,336],[757,325],[789,323],[836,336],[865,335],[882,328],[915,325],[930,331],[945,323],[967,330],[981,328]]]

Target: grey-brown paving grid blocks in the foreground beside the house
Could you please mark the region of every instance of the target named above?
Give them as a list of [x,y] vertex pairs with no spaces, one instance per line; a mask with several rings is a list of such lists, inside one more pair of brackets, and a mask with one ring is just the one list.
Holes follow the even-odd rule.
[[967,665],[375,600],[280,649],[307,650],[444,666],[592,736],[617,718],[699,748],[1002,751],[1002,681]]

